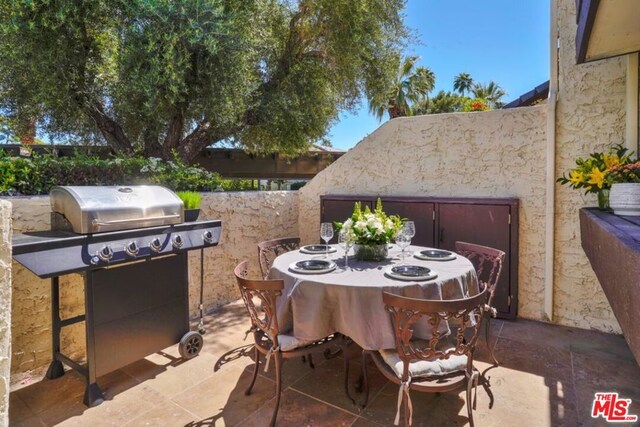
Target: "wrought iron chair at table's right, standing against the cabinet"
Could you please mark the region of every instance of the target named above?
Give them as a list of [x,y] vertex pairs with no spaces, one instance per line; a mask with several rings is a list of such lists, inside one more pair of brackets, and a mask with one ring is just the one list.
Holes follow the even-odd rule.
[[493,308],[493,297],[496,292],[498,280],[500,279],[500,273],[502,272],[505,253],[499,249],[467,242],[456,242],[456,252],[471,261],[476,269],[478,282],[484,283],[487,286],[489,299],[485,308],[488,315],[484,317],[486,319],[484,338],[487,349],[489,350],[489,356],[493,360],[493,366],[498,366],[499,363],[493,355],[489,338],[491,335],[491,318],[496,317],[496,310]]

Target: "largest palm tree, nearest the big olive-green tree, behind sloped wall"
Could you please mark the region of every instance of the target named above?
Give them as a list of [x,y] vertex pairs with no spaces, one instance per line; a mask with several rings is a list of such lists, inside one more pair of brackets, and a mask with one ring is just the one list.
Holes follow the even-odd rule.
[[409,56],[400,60],[398,57],[398,72],[389,87],[369,98],[369,111],[378,120],[384,113],[390,119],[413,114],[414,106],[428,103],[428,94],[435,86],[436,77],[427,67],[416,67],[417,56]]

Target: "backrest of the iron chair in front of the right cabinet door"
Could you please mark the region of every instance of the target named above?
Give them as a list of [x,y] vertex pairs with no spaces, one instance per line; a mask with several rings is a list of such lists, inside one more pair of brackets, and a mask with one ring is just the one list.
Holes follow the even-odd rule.
[[489,305],[492,305],[505,253],[499,249],[467,242],[456,242],[456,252],[471,261],[476,269],[478,281],[487,285]]

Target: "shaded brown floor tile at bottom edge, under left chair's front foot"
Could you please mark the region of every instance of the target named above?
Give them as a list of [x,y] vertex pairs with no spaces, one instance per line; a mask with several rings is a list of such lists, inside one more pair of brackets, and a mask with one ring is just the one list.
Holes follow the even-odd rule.
[[[268,425],[273,414],[275,399],[267,402],[249,418],[242,420],[243,427],[262,427]],[[350,426],[356,419],[354,414],[327,405],[295,390],[285,390],[282,393],[280,409],[278,410],[278,427],[299,426]]]

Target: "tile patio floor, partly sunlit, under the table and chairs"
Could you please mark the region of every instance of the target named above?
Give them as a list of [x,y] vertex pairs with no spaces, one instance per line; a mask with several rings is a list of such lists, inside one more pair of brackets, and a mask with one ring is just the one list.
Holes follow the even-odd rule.
[[[248,320],[242,305],[231,304],[207,317],[205,346],[188,362],[177,346],[113,372],[98,383],[105,402],[82,405],[84,383],[75,372],[42,380],[10,395],[11,426],[263,426],[271,417],[273,366],[260,370],[253,394],[244,395],[252,354],[243,341]],[[478,388],[478,426],[606,425],[590,418],[594,392],[618,391],[632,399],[640,415],[640,367],[619,336],[519,319],[495,321],[495,354],[502,365],[490,370],[495,396]],[[360,370],[357,348],[350,352],[353,387]],[[476,366],[483,370],[486,348]],[[398,389],[374,366],[369,368],[370,403],[354,407],[342,389],[342,360],[284,364],[279,426],[392,425]],[[440,395],[412,393],[414,425],[467,424],[464,391]],[[595,422],[597,421],[597,422]]]

